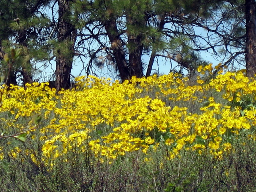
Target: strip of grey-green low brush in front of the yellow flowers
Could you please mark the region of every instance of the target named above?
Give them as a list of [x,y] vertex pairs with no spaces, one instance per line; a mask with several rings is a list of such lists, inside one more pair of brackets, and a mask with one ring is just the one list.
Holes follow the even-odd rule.
[[[237,143],[221,160],[182,150],[172,160],[165,151],[133,152],[113,163],[100,163],[93,154],[70,152],[52,170],[11,158],[1,163],[1,191],[254,191],[256,146]],[[234,145],[236,147],[236,145]],[[22,155],[23,156],[23,155]],[[25,156],[25,155],[24,155]],[[23,156],[23,157],[24,157]],[[68,158],[70,161],[65,162]],[[63,161],[64,160],[64,161]]]

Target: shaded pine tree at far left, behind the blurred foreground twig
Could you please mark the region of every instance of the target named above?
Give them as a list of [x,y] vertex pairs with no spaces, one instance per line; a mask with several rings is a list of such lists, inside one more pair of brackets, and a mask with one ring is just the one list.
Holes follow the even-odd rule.
[[[45,57],[38,57],[40,55],[38,54],[38,51],[40,52],[40,48],[38,47],[42,47],[43,39],[43,36],[38,33],[38,26],[44,26],[48,22],[48,19],[38,14],[38,9],[47,3],[47,0],[13,0],[0,2],[1,55],[3,56],[5,52],[10,52],[12,47],[20,47],[23,50],[20,60],[15,61],[7,85],[17,84],[16,78],[18,72],[22,75],[24,85],[26,83],[32,83],[33,66],[31,59],[45,59]],[[39,30],[42,30],[42,28],[39,28]],[[4,71],[7,71],[8,67],[3,60],[1,61],[1,67],[2,70],[5,68]],[[6,72],[4,73],[6,75]]]

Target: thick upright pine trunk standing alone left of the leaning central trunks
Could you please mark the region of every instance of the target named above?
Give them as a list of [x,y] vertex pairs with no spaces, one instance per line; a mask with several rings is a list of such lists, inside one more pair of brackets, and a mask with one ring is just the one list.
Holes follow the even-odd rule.
[[55,70],[55,86],[57,92],[61,88],[70,88],[70,73],[74,59],[74,47],[76,41],[75,27],[68,20],[70,12],[70,0],[58,0],[59,4],[59,19],[58,19],[58,41],[59,43],[66,43],[69,54],[64,54],[58,50],[56,55],[56,70]]

